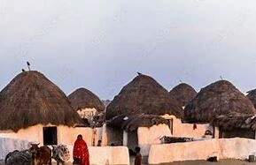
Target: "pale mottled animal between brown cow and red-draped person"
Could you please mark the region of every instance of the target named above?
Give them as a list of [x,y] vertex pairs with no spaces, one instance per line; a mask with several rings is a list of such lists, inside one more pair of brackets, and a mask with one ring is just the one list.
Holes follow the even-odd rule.
[[69,150],[66,145],[52,146],[52,158],[57,161],[57,165],[64,165],[70,159]]

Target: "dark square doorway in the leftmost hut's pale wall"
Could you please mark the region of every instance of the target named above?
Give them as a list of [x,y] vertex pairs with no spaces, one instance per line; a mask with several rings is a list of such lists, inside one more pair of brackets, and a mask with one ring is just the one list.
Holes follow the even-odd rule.
[[57,144],[57,127],[43,127],[43,145]]

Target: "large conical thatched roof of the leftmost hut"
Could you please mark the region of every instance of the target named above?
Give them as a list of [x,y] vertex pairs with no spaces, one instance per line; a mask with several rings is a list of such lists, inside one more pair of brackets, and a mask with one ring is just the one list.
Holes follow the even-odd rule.
[[71,108],[66,94],[38,71],[20,73],[0,93],[0,130],[78,123],[80,116]]

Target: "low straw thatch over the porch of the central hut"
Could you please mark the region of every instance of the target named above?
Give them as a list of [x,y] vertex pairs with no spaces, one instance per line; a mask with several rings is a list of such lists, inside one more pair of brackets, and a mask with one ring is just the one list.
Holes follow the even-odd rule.
[[107,125],[125,131],[136,131],[139,127],[151,127],[158,124],[168,124],[167,119],[152,115],[120,115],[107,121]]

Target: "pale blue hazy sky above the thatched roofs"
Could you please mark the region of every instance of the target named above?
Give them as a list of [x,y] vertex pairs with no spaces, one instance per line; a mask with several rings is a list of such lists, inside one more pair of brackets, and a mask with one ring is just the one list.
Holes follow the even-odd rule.
[[255,0],[0,0],[0,89],[26,67],[112,99],[141,71],[168,90],[256,87]]

